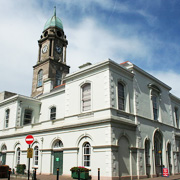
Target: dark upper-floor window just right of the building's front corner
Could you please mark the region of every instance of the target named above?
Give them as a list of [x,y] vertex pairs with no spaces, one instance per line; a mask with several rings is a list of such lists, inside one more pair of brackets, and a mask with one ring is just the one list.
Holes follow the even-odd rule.
[[125,110],[124,85],[118,82],[118,109]]

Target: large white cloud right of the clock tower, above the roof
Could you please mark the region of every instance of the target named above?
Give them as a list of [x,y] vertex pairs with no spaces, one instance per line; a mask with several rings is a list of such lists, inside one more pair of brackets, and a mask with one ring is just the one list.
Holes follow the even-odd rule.
[[[127,28],[127,27],[125,27]],[[123,25],[121,25],[121,31]],[[126,32],[131,29],[126,29]],[[146,58],[151,49],[144,39],[132,35],[124,37],[124,32],[110,33],[92,18],[85,18],[76,27],[66,27],[69,39],[68,62],[72,69],[85,62],[98,62],[107,58],[120,61],[125,57]]]

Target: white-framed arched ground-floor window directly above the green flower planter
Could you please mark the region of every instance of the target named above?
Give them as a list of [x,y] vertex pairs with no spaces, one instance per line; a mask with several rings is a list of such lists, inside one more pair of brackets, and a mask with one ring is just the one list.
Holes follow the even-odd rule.
[[91,145],[90,143],[86,142],[83,145],[83,165],[85,167],[90,167],[91,162]]

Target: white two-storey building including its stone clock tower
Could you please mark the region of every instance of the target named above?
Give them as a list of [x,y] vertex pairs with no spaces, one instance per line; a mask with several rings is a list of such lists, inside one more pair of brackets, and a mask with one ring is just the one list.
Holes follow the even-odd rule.
[[31,167],[70,175],[91,169],[93,179],[180,172],[180,99],[131,62],[87,63],[69,74],[68,41],[56,12],[45,24],[34,66],[32,97],[0,94],[0,161],[28,164],[25,137],[34,136]]

